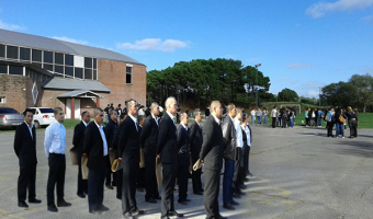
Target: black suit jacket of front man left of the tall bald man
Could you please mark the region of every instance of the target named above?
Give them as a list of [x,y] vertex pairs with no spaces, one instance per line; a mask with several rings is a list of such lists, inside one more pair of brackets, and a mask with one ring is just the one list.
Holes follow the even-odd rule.
[[139,163],[139,132],[136,129],[135,122],[127,116],[121,128],[120,141],[117,143],[118,154],[122,157],[122,163]]

